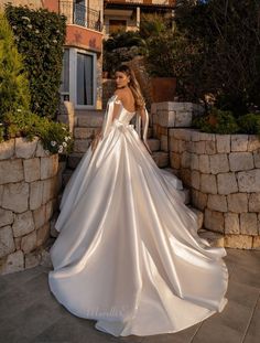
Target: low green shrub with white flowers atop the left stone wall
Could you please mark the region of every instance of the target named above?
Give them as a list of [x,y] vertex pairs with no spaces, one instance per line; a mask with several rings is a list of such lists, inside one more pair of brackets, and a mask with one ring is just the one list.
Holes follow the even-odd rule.
[[66,125],[39,117],[30,110],[18,108],[15,112],[7,112],[0,128],[2,140],[20,136],[33,140],[36,136],[51,153],[69,153],[73,150],[73,139]]

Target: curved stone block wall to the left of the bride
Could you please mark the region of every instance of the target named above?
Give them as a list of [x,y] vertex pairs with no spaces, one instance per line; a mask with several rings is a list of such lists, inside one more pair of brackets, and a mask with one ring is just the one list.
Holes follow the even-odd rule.
[[58,156],[37,138],[0,143],[0,274],[36,266],[57,205]]

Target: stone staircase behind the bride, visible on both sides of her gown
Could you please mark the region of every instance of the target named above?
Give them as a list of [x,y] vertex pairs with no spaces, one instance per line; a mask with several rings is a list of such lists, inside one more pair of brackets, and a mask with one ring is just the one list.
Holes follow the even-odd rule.
[[[85,114],[77,114],[76,116],[76,125],[74,128],[74,152],[67,157],[67,163],[64,164],[64,169],[62,171],[62,189],[67,184],[71,175],[73,174],[74,170],[78,165],[82,157],[87,151],[95,133],[99,130],[102,124],[104,111],[102,110],[91,110]],[[149,127],[148,129],[148,143],[152,151],[152,158],[158,164],[159,168],[164,168],[167,171],[174,174],[172,168],[169,167],[169,152],[161,150],[160,140],[152,137],[152,128]],[[66,168],[65,168],[66,165]],[[197,215],[197,223],[198,223],[198,234],[199,237],[205,238],[209,242],[212,246],[224,246],[224,238],[223,235],[218,233],[208,232],[203,228],[203,219],[204,214],[203,212],[192,207],[189,205],[189,190],[184,189],[184,197],[185,204],[194,211]],[[59,195],[61,196],[61,195]],[[54,234],[52,235],[54,236]]]

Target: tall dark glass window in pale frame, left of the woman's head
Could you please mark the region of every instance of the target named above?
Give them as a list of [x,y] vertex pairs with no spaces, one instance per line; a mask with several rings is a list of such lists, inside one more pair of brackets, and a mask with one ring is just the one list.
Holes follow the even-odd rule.
[[77,53],[77,105],[94,105],[94,57]]

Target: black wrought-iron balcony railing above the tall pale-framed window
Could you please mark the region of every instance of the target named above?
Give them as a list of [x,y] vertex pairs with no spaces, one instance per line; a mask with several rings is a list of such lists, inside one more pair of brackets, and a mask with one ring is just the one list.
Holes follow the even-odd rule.
[[59,1],[59,13],[67,17],[68,24],[76,24],[96,31],[102,30],[100,11],[93,10],[80,3]]

